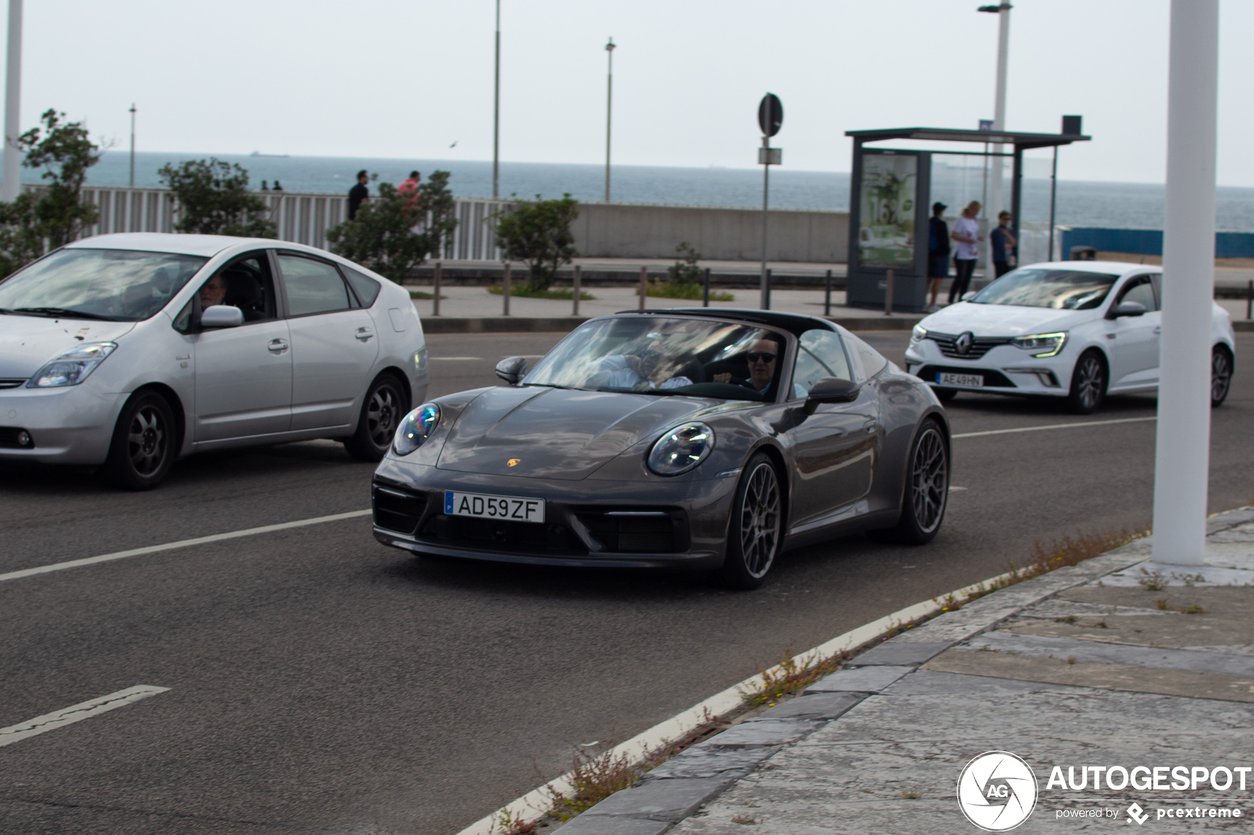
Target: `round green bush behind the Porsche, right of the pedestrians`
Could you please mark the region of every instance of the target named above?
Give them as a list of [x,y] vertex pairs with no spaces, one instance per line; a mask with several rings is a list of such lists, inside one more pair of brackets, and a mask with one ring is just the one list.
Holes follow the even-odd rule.
[[515,203],[505,212],[498,212],[497,245],[508,260],[528,264],[528,285],[533,290],[547,290],[557,278],[562,264],[569,264],[578,255],[571,224],[579,217],[578,200],[563,194],[559,200]]

